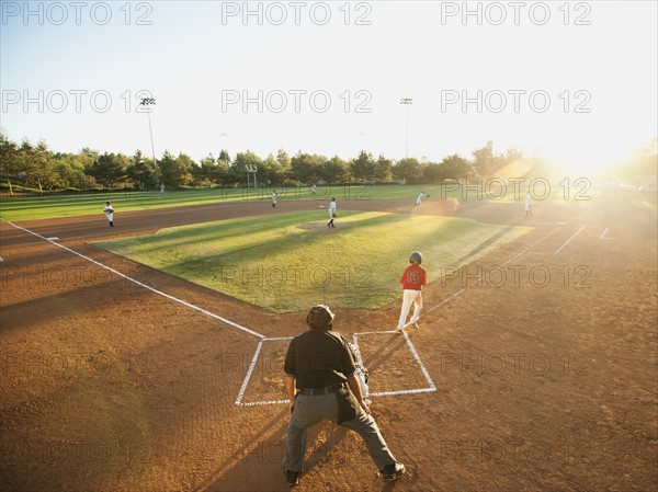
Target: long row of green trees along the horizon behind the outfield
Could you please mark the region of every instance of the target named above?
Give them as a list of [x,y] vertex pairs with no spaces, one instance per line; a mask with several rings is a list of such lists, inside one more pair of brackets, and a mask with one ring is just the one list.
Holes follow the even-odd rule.
[[310,183],[412,183],[438,184],[445,180],[463,182],[489,179],[506,165],[532,161],[534,173],[546,170],[538,158],[526,158],[521,150],[494,150],[492,141],[472,152],[467,159],[460,155],[446,156],[441,162],[406,158],[394,161],[385,156],[375,158],[365,150],[344,160],[339,156],[326,157],[298,151],[293,157],[280,149],[276,155],[261,158],[252,151],[230,157],[220,150],[193,160],[181,152],[164,151],[160,159],[146,157],[140,150],[133,156],[103,152],[83,148],[77,153],[56,152],[44,141],[29,140],[16,144],[0,133],[0,176],[3,187],[20,185],[38,191],[138,188],[147,190],[164,184],[168,187],[237,186],[247,181],[246,167],[256,165],[258,182],[263,185],[300,185]]

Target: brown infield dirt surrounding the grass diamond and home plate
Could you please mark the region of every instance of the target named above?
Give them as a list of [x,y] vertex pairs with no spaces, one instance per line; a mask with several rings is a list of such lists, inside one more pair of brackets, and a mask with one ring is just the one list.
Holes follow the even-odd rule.
[[[293,336],[305,330],[305,312],[269,313],[88,241],[309,207],[117,213],[112,230],[102,215],[19,226],[265,336]],[[383,482],[355,434],[322,423],[309,433],[295,490],[658,487],[654,210],[546,206],[524,219],[518,205],[478,202],[342,207],[535,230],[424,291],[421,329],[409,336],[436,391],[372,404],[407,474]],[[258,337],[7,222],[0,232],[3,491],[288,489],[280,466],[286,407],[235,404]],[[399,301],[332,308],[334,329],[351,337],[394,329]],[[402,340],[360,339],[374,391],[422,382]],[[284,352],[285,343],[263,344],[248,399],[285,398]]]

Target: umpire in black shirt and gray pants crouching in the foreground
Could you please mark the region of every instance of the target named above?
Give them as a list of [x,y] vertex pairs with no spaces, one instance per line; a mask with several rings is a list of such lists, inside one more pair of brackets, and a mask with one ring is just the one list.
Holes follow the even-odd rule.
[[291,408],[283,460],[287,483],[299,483],[306,431],[322,420],[358,432],[384,480],[393,481],[405,472],[405,466],[395,460],[370,414],[354,375],[348,341],[331,331],[332,323],[329,307],[314,306],[306,317],[309,330],[293,339],[285,356],[285,389]]

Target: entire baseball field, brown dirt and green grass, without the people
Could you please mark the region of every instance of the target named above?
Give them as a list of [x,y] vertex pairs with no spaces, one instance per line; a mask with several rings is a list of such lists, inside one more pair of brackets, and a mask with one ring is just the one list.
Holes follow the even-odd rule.
[[[281,491],[283,357],[328,304],[359,347],[385,483],[309,432],[299,491],[658,488],[655,192],[533,204],[382,186],[2,199],[0,489]],[[324,191],[321,191],[324,193]],[[430,284],[395,332],[409,253]]]

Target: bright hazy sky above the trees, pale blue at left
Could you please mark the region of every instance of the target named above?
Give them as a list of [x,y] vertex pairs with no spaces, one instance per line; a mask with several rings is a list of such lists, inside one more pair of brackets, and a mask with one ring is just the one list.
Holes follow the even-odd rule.
[[193,159],[492,140],[585,172],[658,134],[657,4],[1,1],[0,128]]

